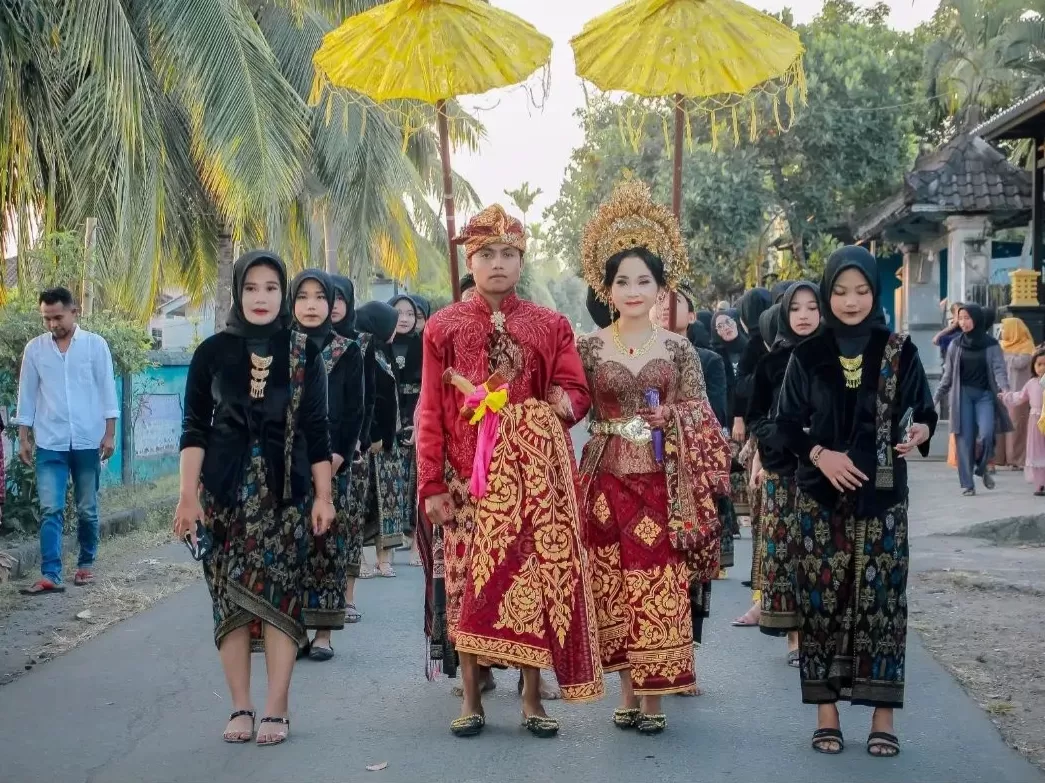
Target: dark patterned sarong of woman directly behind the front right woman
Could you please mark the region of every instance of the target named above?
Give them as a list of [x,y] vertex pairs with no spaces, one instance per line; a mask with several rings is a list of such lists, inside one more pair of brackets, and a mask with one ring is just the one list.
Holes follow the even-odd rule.
[[766,473],[762,482],[759,504],[762,617],[759,625],[768,634],[798,628],[794,555],[800,536],[794,507],[796,490],[793,476]]

